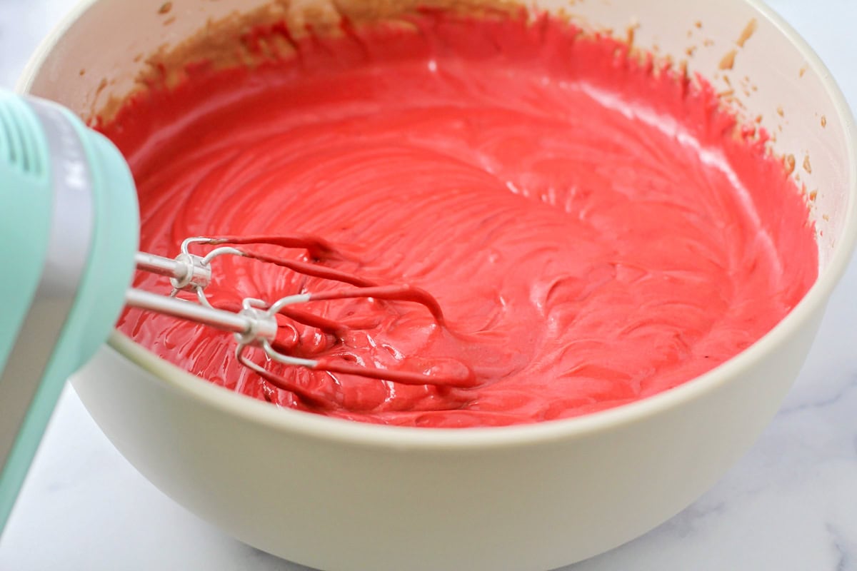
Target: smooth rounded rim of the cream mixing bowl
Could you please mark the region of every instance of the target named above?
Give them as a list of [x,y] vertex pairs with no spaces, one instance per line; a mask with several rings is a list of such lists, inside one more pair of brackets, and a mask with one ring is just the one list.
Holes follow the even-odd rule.
[[[57,27],[39,44],[16,85],[16,91],[29,92],[36,74],[63,34],[94,3],[99,0],[81,0]],[[364,447],[394,449],[469,450],[530,446],[557,440],[569,441],[598,431],[617,430],[643,422],[674,407],[703,398],[734,382],[740,372],[752,366],[794,334],[794,330],[810,323],[817,312],[822,312],[830,294],[840,280],[854,252],[857,241],[857,128],[854,115],[841,88],[830,70],[799,33],[782,16],[770,9],[762,0],[743,0],[758,16],[769,21],[794,45],[805,58],[806,65],[819,77],[829,95],[836,118],[842,123],[848,157],[848,210],[842,223],[842,235],[836,250],[803,299],[768,333],[740,354],[725,361],[709,372],[692,378],[673,389],[665,390],[639,401],[596,413],[569,419],[554,419],[523,425],[473,428],[424,428],[398,425],[375,425],[320,414],[306,413],[289,408],[272,406],[219,385],[207,382],[159,358],[147,348],[133,342],[118,330],[113,330],[102,351],[114,354],[120,360],[130,361],[150,373],[151,381],[164,384],[185,397],[201,401],[219,412],[230,414],[257,425],[266,425],[276,431]]]

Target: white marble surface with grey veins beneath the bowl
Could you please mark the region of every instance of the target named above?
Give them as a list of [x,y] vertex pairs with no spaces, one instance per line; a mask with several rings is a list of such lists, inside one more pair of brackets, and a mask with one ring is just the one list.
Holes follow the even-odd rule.
[[[0,86],[73,0],[0,0]],[[854,0],[770,0],[857,108]],[[564,571],[857,570],[857,263],[800,379],[752,451],[681,514]],[[66,390],[0,538],[0,569],[304,569],[250,548],[157,491]]]

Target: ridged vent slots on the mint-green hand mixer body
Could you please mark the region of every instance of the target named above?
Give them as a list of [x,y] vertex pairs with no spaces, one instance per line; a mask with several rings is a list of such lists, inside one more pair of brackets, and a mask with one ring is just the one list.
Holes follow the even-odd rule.
[[43,161],[34,117],[20,99],[0,96],[0,160],[25,175],[39,176]]

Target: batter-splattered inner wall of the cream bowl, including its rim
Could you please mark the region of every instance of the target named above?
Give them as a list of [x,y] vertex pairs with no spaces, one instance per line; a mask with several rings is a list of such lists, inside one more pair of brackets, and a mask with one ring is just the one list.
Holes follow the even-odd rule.
[[[164,62],[183,53],[189,38],[205,37],[210,53],[219,53],[234,38],[226,37],[218,22],[243,21],[238,15],[265,14],[281,17],[300,27],[308,22],[335,22],[342,14],[354,18],[393,17],[397,11],[417,5],[447,2],[246,2],[223,0],[218,3],[183,0],[158,7],[142,1],[102,0],[81,3],[64,24],[45,40],[34,55],[22,80],[21,90],[65,104],[88,121],[110,113],[129,92],[141,88],[141,78]],[[512,3],[471,0],[476,8]],[[169,5],[169,8],[167,6]],[[460,3],[459,3],[460,5]],[[273,7],[273,8],[272,8]],[[830,290],[844,271],[855,235],[854,125],[847,104],[824,64],[812,50],[776,15],[757,2],[731,0],[727,3],[674,3],[668,0],[622,0],[612,3],[560,2],[543,0],[536,11],[547,10],[571,18],[588,30],[609,31],[669,59],[675,68],[701,74],[722,89],[722,98],[746,122],[756,122],[771,135],[770,149],[782,156],[798,186],[804,189],[810,218],[817,229],[818,282],[806,298],[762,340],[704,376],[677,389],[638,401],[632,405],[587,417],[497,429],[479,436],[482,429],[456,432],[394,429],[386,426],[354,426],[355,423],[312,418],[303,413],[279,411],[265,403],[250,402],[199,380],[171,366],[120,334],[111,345],[130,360],[153,372],[165,382],[194,387],[218,406],[232,411],[258,413],[271,409],[267,421],[297,425],[347,426],[343,430],[372,437],[388,431],[423,432],[428,440],[454,438],[537,437],[545,431],[586,431],[605,423],[656,413],[661,407],[677,406],[687,398],[704,394],[713,384],[728,382],[746,363],[761,358],[770,348],[800,327],[824,306]],[[272,16],[273,15],[273,16]],[[235,28],[232,28],[233,30]],[[217,32],[212,32],[217,30]],[[92,50],[93,39],[110,50]],[[307,424],[302,424],[307,423]],[[321,423],[321,424],[318,424]],[[331,424],[332,423],[332,424]],[[321,429],[320,429],[321,430]],[[324,429],[327,430],[327,429]],[[339,430],[339,428],[335,429]],[[518,435],[518,436],[515,436]],[[527,436],[530,435],[530,436]]]

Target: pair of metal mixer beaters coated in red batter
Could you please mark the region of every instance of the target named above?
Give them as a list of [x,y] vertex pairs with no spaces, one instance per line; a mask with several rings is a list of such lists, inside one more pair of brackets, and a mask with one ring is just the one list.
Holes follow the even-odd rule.
[[[284,248],[303,248],[309,259],[325,259],[336,254],[336,250],[326,241],[315,236],[220,236],[214,238],[194,237],[183,241],[182,252],[169,259],[151,253],[137,253],[135,264],[138,270],[148,271],[169,277],[172,292],[169,297],[151,292],[129,288],[125,295],[127,306],[159,312],[172,317],[182,318],[196,323],[206,324],[219,330],[235,334],[237,342],[236,357],[243,365],[253,370],[268,383],[283,390],[296,390],[286,378],[276,375],[263,366],[250,360],[247,348],[261,348],[268,359],[288,366],[305,366],[310,369],[338,372],[361,377],[377,378],[401,384],[438,384],[444,386],[464,386],[470,384],[472,373],[464,369],[457,372],[411,372],[380,369],[337,360],[331,357],[306,359],[285,353],[278,342],[279,324],[277,315],[284,315],[293,321],[315,327],[326,333],[338,336],[343,325],[312,313],[293,312],[291,306],[321,300],[343,300],[350,298],[371,298],[387,301],[410,301],[425,306],[440,326],[444,325],[443,313],[437,300],[422,288],[411,285],[378,285],[368,279],[349,272],[339,271],[318,263],[303,262],[296,259],[273,256],[267,253],[237,247],[247,244],[277,246]],[[205,255],[190,252],[190,247],[214,246]],[[264,300],[245,298],[237,312],[212,306],[205,288],[212,283],[211,263],[220,256],[233,255],[255,259],[264,263],[279,265],[285,269],[309,277],[320,277],[345,283],[346,287],[318,293],[291,294],[267,303]],[[198,303],[178,300],[179,292],[187,291],[195,295]]]

